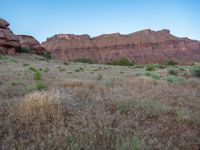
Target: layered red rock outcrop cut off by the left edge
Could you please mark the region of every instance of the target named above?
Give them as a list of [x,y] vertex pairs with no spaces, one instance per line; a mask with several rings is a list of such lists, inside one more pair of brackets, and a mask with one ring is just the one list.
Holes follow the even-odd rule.
[[20,48],[18,37],[8,28],[9,23],[0,18],[0,53],[15,54]]

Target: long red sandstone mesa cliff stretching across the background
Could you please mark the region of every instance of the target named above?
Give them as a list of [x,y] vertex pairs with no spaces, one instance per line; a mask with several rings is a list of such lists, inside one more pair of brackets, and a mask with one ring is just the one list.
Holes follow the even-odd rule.
[[156,32],[147,29],[128,35],[114,33],[94,38],[89,35],[59,34],[48,38],[42,46],[60,58],[90,58],[99,63],[120,57],[137,63],[174,60],[180,64],[191,64],[200,61],[200,42],[175,37],[169,30]]

